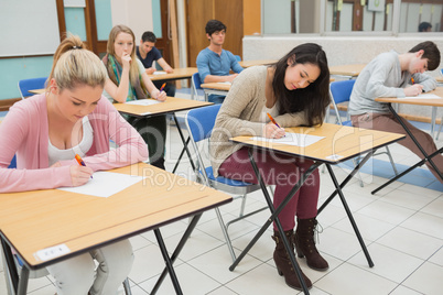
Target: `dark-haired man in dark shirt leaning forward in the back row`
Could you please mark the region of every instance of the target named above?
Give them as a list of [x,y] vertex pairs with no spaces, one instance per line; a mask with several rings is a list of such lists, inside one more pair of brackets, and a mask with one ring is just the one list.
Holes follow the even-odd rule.
[[[153,62],[156,62],[166,73],[174,72],[166,61],[164,61],[160,51],[155,48],[155,34],[147,31],[141,35],[140,45],[136,48],[137,57],[139,57],[143,64],[147,74],[151,75],[156,70],[156,68],[152,66]],[[165,81],[155,80],[152,83],[160,89]],[[175,96],[175,86],[173,84],[166,83],[163,90],[166,92],[166,96]]]

